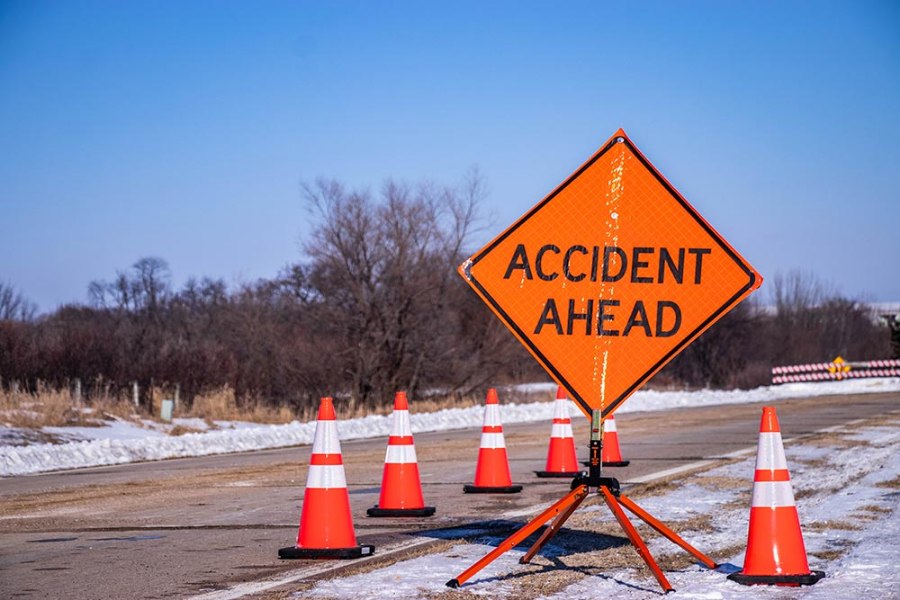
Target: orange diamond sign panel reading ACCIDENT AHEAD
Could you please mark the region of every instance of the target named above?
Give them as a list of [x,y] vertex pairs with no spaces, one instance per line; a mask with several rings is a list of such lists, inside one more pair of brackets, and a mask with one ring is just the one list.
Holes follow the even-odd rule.
[[459,272],[604,418],[762,283],[621,129]]

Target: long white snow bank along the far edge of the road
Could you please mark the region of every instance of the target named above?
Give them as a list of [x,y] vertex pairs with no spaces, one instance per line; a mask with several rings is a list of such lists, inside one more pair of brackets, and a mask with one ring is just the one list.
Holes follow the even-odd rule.
[[[522,391],[552,392],[555,384],[528,384]],[[638,391],[619,409],[619,413],[653,411],[679,406],[705,406],[749,402],[773,402],[785,398],[831,394],[863,394],[900,391],[900,378],[794,383],[767,386],[755,390]],[[502,397],[501,397],[502,401]],[[504,404],[504,423],[526,423],[552,418],[553,402]],[[570,413],[581,412],[570,406]],[[413,414],[410,422],[414,433],[445,431],[481,425],[483,408],[451,408],[433,413]],[[370,415],[338,422],[342,440],[383,437],[390,433],[391,418]],[[140,428],[125,422],[108,427],[47,428],[45,431],[67,438],[87,438],[62,444],[0,446],[0,476],[25,475],[44,471],[77,469],[128,462],[206,456],[229,452],[245,452],[312,443],[314,421],[287,425],[232,424],[228,429],[167,436],[159,431]],[[4,428],[0,428],[2,430]],[[15,432],[5,428],[0,439],[15,439]]]

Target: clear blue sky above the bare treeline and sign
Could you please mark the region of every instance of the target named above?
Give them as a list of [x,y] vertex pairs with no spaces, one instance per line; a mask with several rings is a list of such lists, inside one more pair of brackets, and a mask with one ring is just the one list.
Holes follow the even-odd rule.
[[494,234],[618,127],[768,281],[900,301],[891,2],[0,2],[0,281],[271,277],[319,176],[477,166]]

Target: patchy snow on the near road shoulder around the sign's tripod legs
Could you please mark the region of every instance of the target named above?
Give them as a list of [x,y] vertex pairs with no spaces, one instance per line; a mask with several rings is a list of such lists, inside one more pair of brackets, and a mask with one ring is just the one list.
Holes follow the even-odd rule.
[[[795,600],[800,598],[856,600],[858,598],[900,597],[900,571],[896,568],[900,545],[900,494],[879,484],[900,476],[900,436],[885,436],[883,427],[864,429],[846,435],[846,438],[863,437],[877,439],[878,444],[850,448],[840,446],[824,449],[803,446],[802,441],[792,445],[794,456],[814,456],[826,460],[828,471],[840,473],[852,460],[857,468],[849,476],[829,478],[827,485],[809,487],[798,504],[801,523],[833,521],[849,523],[853,529],[807,528],[803,532],[811,569],[824,570],[825,579],[814,586],[802,588],[742,586],[726,578],[728,573],[740,569],[743,552],[730,557],[717,570],[711,571],[694,565],[676,571],[667,571],[666,577],[675,588],[673,598],[697,600]],[[701,551],[715,548],[743,546],[747,540],[750,488],[755,457],[738,461],[702,473],[683,486],[649,498],[641,498],[639,505],[665,521],[687,519],[707,515],[711,518],[712,532],[684,532],[683,537]],[[789,457],[788,466],[795,482],[810,482],[822,475],[821,466],[803,461],[794,463]],[[702,485],[703,477],[735,477],[747,479],[746,489],[714,489]],[[807,485],[804,483],[803,485]],[[835,490],[829,485],[837,484]],[[626,490],[627,493],[627,490]],[[795,486],[796,493],[796,486]],[[742,508],[725,508],[744,500]],[[871,507],[880,507],[872,511]],[[868,508],[866,508],[868,507]],[[865,509],[865,510],[864,510]],[[586,506],[579,512],[598,511],[612,520],[605,507]],[[559,535],[565,535],[565,531]],[[652,534],[648,536],[651,553],[680,552],[671,542]],[[500,539],[481,539],[471,544],[458,544],[449,550],[400,561],[374,571],[349,577],[334,578],[316,584],[310,590],[293,597],[325,597],[353,599],[359,590],[365,589],[371,598],[415,598],[438,595],[447,591],[446,582],[494,549]],[[465,583],[463,590],[477,596],[490,598],[516,598],[517,574],[527,567],[518,563],[525,546],[520,546],[500,556]],[[814,556],[832,550],[844,552],[835,559],[822,560]],[[553,541],[540,553],[536,561],[553,559],[564,553]],[[823,554],[827,556],[828,554]],[[614,597],[623,600],[643,600],[662,597],[656,581],[634,554],[634,567],[604,569],[583,577],[564,589],[543,597],[543,600],[588,600]],[[415,574],[411,576],[410,574]]]

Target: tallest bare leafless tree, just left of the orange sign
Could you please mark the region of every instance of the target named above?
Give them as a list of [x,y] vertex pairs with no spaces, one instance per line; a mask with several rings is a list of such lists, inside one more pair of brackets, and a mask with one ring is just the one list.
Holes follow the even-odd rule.
[[367,404],[415,389],[454,344],[448,292],[472,229],[483,184],[387,182],[376,198],[336,181],[305,185],[319,220],[305,245],[311,304],[343,339],[350,394]]

